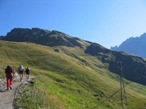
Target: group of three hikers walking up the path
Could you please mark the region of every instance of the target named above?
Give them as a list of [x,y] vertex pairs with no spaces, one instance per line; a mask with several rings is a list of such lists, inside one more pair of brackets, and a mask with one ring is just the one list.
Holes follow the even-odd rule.
[[[29,79],[30,74],[30,68],[24,68],[23,65],[20,65],[18,67],[18,74],[20,76],[20,82],[23,80],[24,73],[26,74],[26,79]],[[12,90],[13,85],[13,78],[16,74],[14,68],[10,65],[8,65],[5,69],[5,75],[6,75],[6,82],[7,82],[7,90]]]

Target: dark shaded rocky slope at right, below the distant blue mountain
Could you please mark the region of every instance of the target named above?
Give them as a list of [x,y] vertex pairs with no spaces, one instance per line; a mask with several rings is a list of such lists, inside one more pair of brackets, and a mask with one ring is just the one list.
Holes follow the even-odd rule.
[[146,75],[146,61],[143,58],[125,52],[111,51],[95,43],[88,46],[85,53],[107,63],[111,72],[120,74],[121,66],[124,78],[146,84],[145,78],[137,78],[139,75]]

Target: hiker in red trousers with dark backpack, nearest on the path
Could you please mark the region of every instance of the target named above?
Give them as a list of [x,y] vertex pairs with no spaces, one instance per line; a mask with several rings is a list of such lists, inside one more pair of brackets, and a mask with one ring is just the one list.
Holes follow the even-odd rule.
[[8,65],[5,69],[7,90],[10,90],[10,89],[12,90],[14,73],[15,73],[15,71],[14,71],[13,67]]

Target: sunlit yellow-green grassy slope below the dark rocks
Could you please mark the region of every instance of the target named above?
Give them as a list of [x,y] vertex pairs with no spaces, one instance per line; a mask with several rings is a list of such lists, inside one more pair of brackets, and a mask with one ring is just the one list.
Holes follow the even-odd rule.
[[[20,64],[29,66],[38,78],[35,88],[51,109],[92,109],[119,89],[118,76],[95,57],[85,55],[83,48],[0,41],[0,63],[1,76],[8,64],[15,69]],[[131,83],[126,92],[130,109],[146,109],[145,86]],[[120,93],[99,109],[121,109]]]

